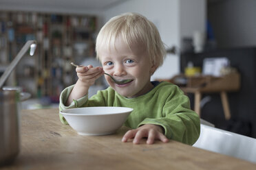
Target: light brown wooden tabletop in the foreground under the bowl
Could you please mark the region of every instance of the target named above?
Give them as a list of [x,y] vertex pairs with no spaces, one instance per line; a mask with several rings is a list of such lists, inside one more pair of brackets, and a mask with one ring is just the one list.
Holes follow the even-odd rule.
[[61,124],[57,109],[22,110],[21,152],[2,169],[256,169],[251,162],[176,141],[122,143],[126,131],[80,136]]

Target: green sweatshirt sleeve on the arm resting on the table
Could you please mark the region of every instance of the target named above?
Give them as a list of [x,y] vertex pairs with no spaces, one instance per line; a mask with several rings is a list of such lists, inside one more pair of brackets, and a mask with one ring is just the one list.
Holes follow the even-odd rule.
[[[167,93],[165,93],[167,94]],[[140,125],[151,123],[164,128],[167,138],[193,145],[200,135],[200,117],[190,109],[189,97],[180,88],[176,88],[162,106],[162,117],[145,119]],[[160,99],[160,100],[162,100]]]

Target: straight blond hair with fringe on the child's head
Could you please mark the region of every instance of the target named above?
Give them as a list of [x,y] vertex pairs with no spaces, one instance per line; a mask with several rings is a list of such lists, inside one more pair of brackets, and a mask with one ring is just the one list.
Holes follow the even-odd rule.
[[125,13],[111,18],[98,33],[96,53],[101,47],[115,47],[116,39],[122,38],[129,48],[134,43],[142,45],[147,51],[153,66],[162,65],[166,50],[156,26],[145,16],[136,13]]

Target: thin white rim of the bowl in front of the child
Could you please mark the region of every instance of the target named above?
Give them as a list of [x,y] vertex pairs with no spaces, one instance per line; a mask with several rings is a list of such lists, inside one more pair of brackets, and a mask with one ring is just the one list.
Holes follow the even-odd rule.
[[[126,108],[127,110],[124,110],[122,112],[111,112],[111,113],[100,113],[100,114],[88,114],[88,113],[69,113],[65,112],[66,110],[81,110],[84,108]],[[61,110],[60,113],[63,115],[74,115],[74,116],[100,116],[100,115],[111,115],[111,114],[120,114],[120,113],[127,113],[127,112],[132,112],[134,109],[133,108],[128,108],[128,107],[120,107],[120,106],[93,106],[93,107],[83,107],[83,108],[68,108],[65,110]]]

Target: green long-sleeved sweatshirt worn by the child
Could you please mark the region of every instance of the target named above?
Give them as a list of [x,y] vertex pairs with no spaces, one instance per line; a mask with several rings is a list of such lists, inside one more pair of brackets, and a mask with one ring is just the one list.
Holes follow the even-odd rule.
[[[109,87],[99,90],[88,99],[88,95],[74,100],[70,106],[65,106],[67,97],[74,85],[63,90],[60,96],[59,109],[81,108],[92,106],[120,106],[134,108],[125,125],[137,128],[144,124],[160,125],[164,128],[167,138],[193,145],[200,135],[200,118],[190,109],[189,98],[174,84],[161,82],[149,93],[128,99],[116,93]],[[67,124],[59,114],[61,122]]]

